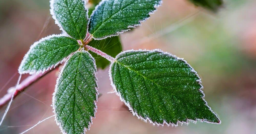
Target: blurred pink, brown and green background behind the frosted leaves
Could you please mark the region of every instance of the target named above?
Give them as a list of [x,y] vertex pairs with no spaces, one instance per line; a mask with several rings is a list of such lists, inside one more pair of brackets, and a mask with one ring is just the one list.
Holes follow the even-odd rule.
[[[110,85],[108,69],[98,70],[98,109],[86,134],[256,134],[256,1],[224,0],[214,14],[187,0],[163,0],[150,19],[120,35],[123,50],[161,49],[188,61],[198,72],[209,106],[222,124],[198,122],[157,127],[138,120]],[[17,68],[29,46],[61,31],[49,0],[0,0],[0,97],[16,84]],[[1,134],[16,134],[52,116],[52,71],[14,99]],[[22,79],[28,75],[22,76]],[[6,107],[0,109],[2,117]],[[54,118],[27,134],[61,134]]]

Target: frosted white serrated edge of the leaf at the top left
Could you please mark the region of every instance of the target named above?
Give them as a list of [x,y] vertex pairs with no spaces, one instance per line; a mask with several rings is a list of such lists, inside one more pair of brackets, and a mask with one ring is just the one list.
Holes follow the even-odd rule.
[[[88,20],[87,27],[86,27],[86,31],[87,31],[87,33],[88,33],[88,27],[89,27],[89,23],[90,23],[90,18],[89,18],[89,16],[88,16],[88,9],[87,9],[87,7],[86,7],[86,0],[81,0],[81,1],[84,1],[84,7],[85,7],[85,9],[86,9],[86,17],[87,17],[87,20]],[[68,36],[68,37],[71,37],[71,36],[63,29],[61,23],[60,23],[60,22],[57,20],[57,18],[56,18],[56,15],[55,15],[55,13],[54,13],[54,11],[53,11],[53,9],[54,9],[54,6],[53,6],[54,2],[55,2],[55,0],[50,0],[50,14],[52,15],[52,18],[54,19],[55,24],[57,24],[57,25],[60,27],[60,30],[62,31],[62,34],[63,34],[63,35],[66,35],[66,36]],[[86,34],[87,34],[87,33],[86,33]],[[71,38],[73,38],[73,37],[71,37]],[[82,39],[82,40],[83,40],[83,39]]]

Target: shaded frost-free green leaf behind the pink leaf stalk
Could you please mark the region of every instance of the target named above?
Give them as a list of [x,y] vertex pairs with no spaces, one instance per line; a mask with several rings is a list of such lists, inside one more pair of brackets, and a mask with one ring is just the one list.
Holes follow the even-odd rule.
[[[89,42],[88,45],[96,49],[99,49],[112,57],[116,57],[116,55],[122,51],[122,45],[121,45],[121,42],[119,41],[118,36],[106,38],[104,40],[93,39],[91,42]],[[90,52],[90,53],[96,60],[97,68],[105,69],[106,66],[110,64],[108,60],[101,57],[100,55],[97,55],[94,52]]]

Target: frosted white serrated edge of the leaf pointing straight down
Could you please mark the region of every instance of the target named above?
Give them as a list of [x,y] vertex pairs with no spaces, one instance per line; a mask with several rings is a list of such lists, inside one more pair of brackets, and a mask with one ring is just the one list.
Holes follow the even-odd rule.
[[[93,61],[94,61],[94,67],[96,68],[95,59],[91,56],[91,54],[90,54],[89,52],[87,52],[87,51],[85,51],[85,50],[76,51],[76,52],[73,53],[72,55],[74,55],[74,54],[76,54],[76,53],[80,53],[80,52],[86,52],[86,53],[88,53],[88,54],[90,55],[91,59],[93,59]],[[59,80],[60,80],[60,78],[61,78],[61,75],[62,75],[62,73],[63,73],[63,70],[64,70],[64,68],[66,67],[67,62],[68,62],[68,60],[69,60],[70,58],[71,58],[71,56],[69,56],[69,58],[66,60],[66,62],[65,62],[65,64],[63,65],[63,67],[62,67],[60,73],[58,74],[58,78],[57,78],[57,81],[56,81],[54,93],[52,94],[52,105],[51,105],[51,106],[52,106],[52,109],[53,109],[52,112],[53,112],[54,115],[55,115],[56,124],[59,126],[59,128],[60,128],[60,130],[61,130],[61,132],[62,132],[63,134],[67,134],[67,133],[63,131],[63,129],[62,129],[62,127],[61,127],[61,122],[58,122],[58,121],[57,121],[57,114],[56,114],[56,112],[55,112],[54,103],[55,103],[55,94],[56,94],[57,88],[58,88],[58,82],[59,82]],[[96,69],[96,70],[97,70],[97,69]],[[95,90],[96,90],[96,101],[94,101],[94,104],[95,104],[95,108],[94,108],[94,117],[91,117],[91,119],[90,119],[91,123],[89,122],[89,127],[88,127],[88,129],[87,129],[86,127],[84,128],[84,133],[83,133],[83,134],[85,134],[85,132],[86,132],[87,130],[90,130],[91,124],[93,124],[92,118],[95,118],[95,114],[96,114],[96,112],[97,112],[97,102],[98,102],[98,95],[99,95],[99,93],[98,93],[98,78],[96,77],[96,74],[97,74],[97,71],[94,72],[94,75],[95,75],[95,78],[96,78],[96,84],[97,84],[97,85],[96,85],[96,88],[95,88]]]

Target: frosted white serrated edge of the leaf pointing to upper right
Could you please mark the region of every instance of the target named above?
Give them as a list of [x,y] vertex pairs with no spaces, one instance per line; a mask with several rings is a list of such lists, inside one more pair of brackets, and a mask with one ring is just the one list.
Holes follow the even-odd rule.
[[[94,10],[92,11],[92,13],[91,13],[91,16],[94,14],[94,12],[96,12],[97,8],[101,5],[101,3],[105,2],[105,1],[107,1],[107,0],[102,0],[102,1],[95,7],[95,9],[94,9]],[[155,10],[149,12],[149,15],[150,15],[150,14],[153,14],[153,13],[157,10],[156,8],[157,8],[157,7],[160,7],[161,4],[162,4],[162,0],[159,1],[157,4],[154,5]],[[91,16],[90,16],[89,24],[90,24],[90,21],[91,21]],[[128,28],[127,30],[123,30],[123,31],[117,32],[116,34],[113,34],[113,35],[104,36],[104,37],[102,37],[102,38],[94,38],[93,35],[92,35],[91,33],[90,33],[90,34],[92,35],[92,38],[95,39],[95,40],[103,40],[103,39],[106,39],[106,38],[108,38],[108,37],[119,36],[119,34],[131,30],[130,28],[135,28],[136,26],[141,26],[141,22],[145,22],[145,21],[148,20],[149,18],[150,18],[150,17],[146,17],[146,18],[143,19],[143,20],[139,20],[139,21],[138,21],[139,24],[137,24],[137,25],[130,25],[130,26],[127,26],[127,28]],[[89,30],[89,25],[88,25],[88,30]]]

